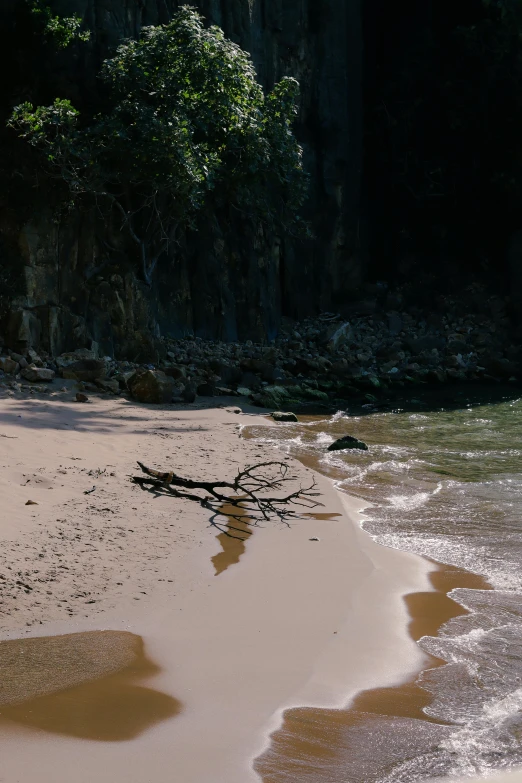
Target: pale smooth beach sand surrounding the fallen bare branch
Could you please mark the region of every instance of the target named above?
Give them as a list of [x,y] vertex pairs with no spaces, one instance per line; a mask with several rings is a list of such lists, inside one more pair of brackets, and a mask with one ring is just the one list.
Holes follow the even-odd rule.
[[[225,569],[207,512],[128,480],[136,459],[225,478],[278,458],[239,437],[248,412],[70,396],[0,399],[0,633],[33,645],[112,635],[89,637],[83,652],[78,636],[61,640],[59,656],[31,652],[32,673],[22,668],[32,702],[0,708],[4,783],[253,783],[252,760],[284,709],[344,706],[421,668],[402,596],[432,589],[431,566],[376,544],[357,524],[357,501],[326,479],[321,515],[257,528]],[[119,674],[100,670],[100,659],[120,658]],[[0,676],[20,676],[0,647],[2,660]],[[67,718],[79,703],[90,705],[83,735]],[[107,714],[117,723],[125,712],[130,728],[108,732]]]

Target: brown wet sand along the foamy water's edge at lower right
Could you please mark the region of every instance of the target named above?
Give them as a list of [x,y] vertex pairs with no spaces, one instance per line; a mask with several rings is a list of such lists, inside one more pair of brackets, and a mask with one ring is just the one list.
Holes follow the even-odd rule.
[[[457,587],[488,590],[485,579],[453,566],[433,563],[429,574],[432,591],[404,596],[408,609],[408,631],[418,641],[435,636],[440,627],[453,617],[468,614],[447,593]],[[445,661],[427,656],[423,671],[444,665]],[[436,724],[426,733],[434,745],[443,738],[445,724],[424,712],[432,701],[431,694],[417,680],[419,672],[406,682],[389,688],[373,688],[359,693],[345,709],[318,710],[306,707],[288,710],[271,745],[255,768],[263,783],[299,780],[307,783],[369,783],[386,771],[393,756],[374,747],[376,733],[389,719],[408,718],[425,724]],[[411,726],[407,727],[411,731]],[[396,743],[397,759],[407,757],[406,743]],[[401,758],[402,755],[402,758]]]

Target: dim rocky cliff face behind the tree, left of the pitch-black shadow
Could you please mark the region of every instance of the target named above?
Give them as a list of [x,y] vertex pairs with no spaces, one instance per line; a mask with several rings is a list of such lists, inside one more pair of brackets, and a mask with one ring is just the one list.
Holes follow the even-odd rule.
[[[21,3],[10,0],[0,23],[2,15],[7,23]],[[9,270],[5,290],[12,284],[12,294],[0,296],[0,336],[3,332],[9,346],[22,349],[31,342],[57,353],[94,339],[105,353],[145,360],[153,356],[161,333],[270,338],[281,314],[302,317],[346,301],[361,279],[360,4],[196,3],[209,22],[252,54],[266,87],[284,75],[301,83],[297,134],[311,174],[307,216],[313,240],[252,236],[229,216],[207,214],[199,230],[162,260],[148,287],[114,232],[108,244],[99,219],[88,213],[56,223],[45,194],[32,183],[30,209],[18,206],[24,201],[19,195],[18,201],[0,200],[0,261],[4,274]],[[172,0],[57,0],[53,9],[79,13],[92,39],[42,66],[49,86],[40,83],[38,98],[47,89],[48,100],[59,95],[88,101],[99,63],[118,41],[137,36],[144,25],[167,22],[176,5]],[[12,106],[31,98],[36,99],[22,79],[5,102]]]

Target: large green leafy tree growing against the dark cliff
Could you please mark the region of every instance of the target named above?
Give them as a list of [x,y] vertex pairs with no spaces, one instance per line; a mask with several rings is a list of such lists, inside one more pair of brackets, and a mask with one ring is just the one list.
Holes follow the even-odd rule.
[[293,133],[298,83],[264,95],[249,56],[190,7],[104,63],[107,106],[15,108],[11,127],[75,200],[118,215],[150,284],[158,259],[209,202],[293,231],[307,178]]

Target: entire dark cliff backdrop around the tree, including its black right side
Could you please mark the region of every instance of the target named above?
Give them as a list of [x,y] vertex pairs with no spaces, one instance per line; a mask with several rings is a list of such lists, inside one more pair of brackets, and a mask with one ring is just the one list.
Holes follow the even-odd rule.
[[[95,105],[102,60],[142,26],[168,21],[178,4],[51,5],[78,13],[91,40],[56,51],[34,31],[25,0],[0,9],[4,344],[58,354],[95,340],[111,356],[153,360],[161,334],[270,340],[282,315],[371,310],[386,285],[402,287],[404,307],[429,308],[436,292],[458,293],[473,280],[515,294],[516,304],[516,250],[512,268],[506,258],[522,225],[522,104],[503,69],[513,74],[519,61],[511,53],[499,64],[487,30],[480,37],[489,23],[481,0],[458,9],[449,0],[195,3],[252,54],[266,87],[284,75],[300,81],[296,133],[311,175],[314,238],[266,236],[235,215],[207,213],[161,260],[151,287],[133,248],[94,211],[56,219],[56,196],[39,182],[31,151],[3,129],[24,100]],[[477,25],[481,53],[469,40]]]

